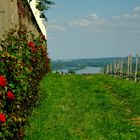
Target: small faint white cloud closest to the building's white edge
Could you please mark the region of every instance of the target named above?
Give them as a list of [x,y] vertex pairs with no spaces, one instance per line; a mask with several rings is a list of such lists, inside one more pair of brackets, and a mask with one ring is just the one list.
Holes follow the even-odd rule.
[[64,32],[64,31],[66,31],[66,29],[64,28],[64,26],[62,26],[61,24],[59,24],[56,20],[50,21],[48,23],[47,29],[49,31],[58,31],[58,32]]

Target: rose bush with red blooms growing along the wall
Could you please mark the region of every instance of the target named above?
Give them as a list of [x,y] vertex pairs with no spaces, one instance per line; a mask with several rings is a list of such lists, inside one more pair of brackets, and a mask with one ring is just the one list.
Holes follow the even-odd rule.
[[0,47],[0,139],[22,139],[39,81],[50,70],[47,42],[25,28],[11,29]]

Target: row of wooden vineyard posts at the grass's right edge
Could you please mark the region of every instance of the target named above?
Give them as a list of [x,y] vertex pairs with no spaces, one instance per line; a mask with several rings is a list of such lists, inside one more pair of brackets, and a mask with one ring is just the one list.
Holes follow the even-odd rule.
[[101,73],[131,79],[135,82],[139,81],[140,58],[138,55],[136,55],[136,57],[129,55],[125,59],[119,59],[118,61],[114,61],[114,63],[108,64],[102,69]]

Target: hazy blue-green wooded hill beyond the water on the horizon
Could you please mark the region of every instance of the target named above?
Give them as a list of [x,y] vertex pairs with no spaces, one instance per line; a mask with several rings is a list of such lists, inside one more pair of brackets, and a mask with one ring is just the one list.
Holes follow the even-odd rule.
[[105,67],[106,65],[123,59],[127,62],[127,58],[112,57],[112,58],[91,58],[91,59],[72,59],[72,60],[55,60],[51,62],[52,70],[65,69],[68,67],[75,67],[82,69],[89,67]]

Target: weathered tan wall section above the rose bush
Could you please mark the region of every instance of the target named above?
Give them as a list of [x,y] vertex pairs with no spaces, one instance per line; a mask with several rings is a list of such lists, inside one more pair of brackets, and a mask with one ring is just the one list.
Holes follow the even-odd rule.
[[41,33],[32,10],[23,0],[0,0],[0,37],[11,28],[25,25],[35,35]]

